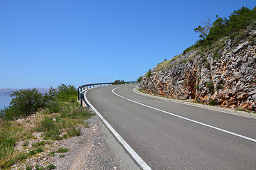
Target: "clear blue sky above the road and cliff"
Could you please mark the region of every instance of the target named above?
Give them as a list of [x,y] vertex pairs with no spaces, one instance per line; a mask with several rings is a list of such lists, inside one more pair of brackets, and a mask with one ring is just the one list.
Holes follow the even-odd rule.
[[255,0],[1,0],[0,88],[136,81]]

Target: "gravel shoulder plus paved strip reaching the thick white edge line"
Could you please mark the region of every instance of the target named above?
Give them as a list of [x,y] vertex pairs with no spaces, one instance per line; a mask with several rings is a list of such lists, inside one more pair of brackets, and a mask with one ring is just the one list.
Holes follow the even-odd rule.
[[[36,166],[46,168],[49,164],[53,164],[60,170],[139,169],[97,115],[85,121],[88,122],[89,128],[82,127],[80,136],[47,142],[43,152],[12,165],[11,169],[26,169],[28,166],[31,169],[36,169]],[[42,140],[42,132],[35,132],[33,135],[35,140],[31,143]],[[22,143],[23,141],[18,142],[16,149],[23,149]],[[59,148],[69,150],[65,153],[56,153],[55,151]],[[27,149],[31,149],[31,145],[28,145]],[[50,152],[55,154],[50,155]]]

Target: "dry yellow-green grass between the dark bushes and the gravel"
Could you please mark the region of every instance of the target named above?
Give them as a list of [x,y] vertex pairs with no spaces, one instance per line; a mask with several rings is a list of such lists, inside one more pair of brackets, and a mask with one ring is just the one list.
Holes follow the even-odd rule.
[[[63,140],[63,138],[80,135],[79,127],[85,126],[86,123],[83,120],[90,118],[91,115],[92,113],[85,108],[80,108],[79,103],[63,103],[60,113],[41,110],[27,118],[2,121],[0,123],[0,169],[9,169],[12,164],[30,157],[28,150],[24,150],[23,147],[32,145],[31,142],[34,140],[39,138]],[[47,139],[34,136],[40,129],[42,136]],[[23,143],[27,144],[23,145]]]

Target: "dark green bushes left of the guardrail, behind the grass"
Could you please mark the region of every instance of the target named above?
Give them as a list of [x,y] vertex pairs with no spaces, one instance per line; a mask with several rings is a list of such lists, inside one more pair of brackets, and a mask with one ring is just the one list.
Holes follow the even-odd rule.
[[77,90],[70,84],[61,84],[58,89],[50,87],[48,93],[41,94],[38,89],[14,91],[9,108],[0,111],[0,118],[15,120],[36,113],[41,108],[48,107],[53,113],[60,110],[58,101],[72,102],[77,100]]

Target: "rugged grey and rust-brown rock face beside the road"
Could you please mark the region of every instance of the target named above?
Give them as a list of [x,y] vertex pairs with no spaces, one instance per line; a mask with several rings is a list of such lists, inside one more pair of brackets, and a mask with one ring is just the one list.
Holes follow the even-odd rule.
[[139,88],[149,94],[180,99],[191,95],[201,103],[212,99],[221,106],[255,111],[255,50],[255,38],[240,43],[223,38],[208,49],[191,50],[162,62],[151,75],[145,74]]

